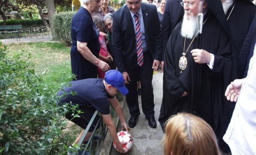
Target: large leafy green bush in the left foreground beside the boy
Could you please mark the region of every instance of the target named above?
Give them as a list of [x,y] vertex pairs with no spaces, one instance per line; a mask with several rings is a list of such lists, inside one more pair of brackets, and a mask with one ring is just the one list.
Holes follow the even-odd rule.
[[0,154],[65,154],[67,121],[56,92],[35,74],[29,55],[7,58],[6,50],[0,42]]

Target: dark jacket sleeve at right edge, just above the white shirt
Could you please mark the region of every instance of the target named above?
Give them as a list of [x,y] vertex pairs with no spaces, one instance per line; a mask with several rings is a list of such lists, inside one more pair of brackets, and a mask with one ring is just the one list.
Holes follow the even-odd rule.
[[254,45],[256,43],[256,15],[252,21],[249,32],[243,42],[241,52],[239,53],[240,59],[240,73],[243,74],[243,77],[247,76],[247,71],[249,67],[250,58],[254,52]]

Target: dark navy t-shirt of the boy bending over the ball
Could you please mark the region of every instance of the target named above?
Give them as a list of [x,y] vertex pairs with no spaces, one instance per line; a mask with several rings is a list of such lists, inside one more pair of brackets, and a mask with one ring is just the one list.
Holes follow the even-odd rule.
[[[83,80],[77,80],[70,82],[65,91],[65,95],[60,90],[57,96],[61,96],[60,104],[72,103],[73,105],[78,104],[79,106],[90,107],[93,106],[96,110],[99,110],[101,114],[109,114],[109,101],[108,93],[103,84],[101,78],[88,78]],[[70,92],[74,92],[75,95]]]

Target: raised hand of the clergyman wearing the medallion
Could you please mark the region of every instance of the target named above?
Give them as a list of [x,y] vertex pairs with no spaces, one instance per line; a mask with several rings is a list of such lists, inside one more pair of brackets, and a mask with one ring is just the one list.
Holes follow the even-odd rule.
[[211,61],[211,54],[202,49],[194,49],[191,51],[192,57],[195,60],[195,63],[198,64],[209,64]]

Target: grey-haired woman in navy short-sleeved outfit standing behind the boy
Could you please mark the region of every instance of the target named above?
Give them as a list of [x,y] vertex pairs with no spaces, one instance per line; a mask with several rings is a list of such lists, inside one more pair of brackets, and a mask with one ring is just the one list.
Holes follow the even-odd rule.
[[99,10],[100,0],[83,0],[83,6],[74,14],[71,23],[72,46],[70,51],[73,80],[96,78],[97,67],[109,70],[109,65],[98,59],[99,30],[92,14]]

